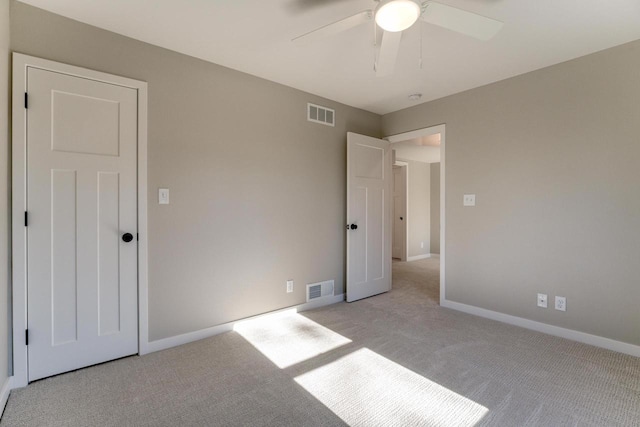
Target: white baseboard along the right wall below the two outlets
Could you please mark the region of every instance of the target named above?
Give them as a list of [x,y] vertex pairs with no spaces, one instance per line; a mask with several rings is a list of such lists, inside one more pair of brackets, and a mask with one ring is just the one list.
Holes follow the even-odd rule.
[[499,322],[508,323],[522,328],[531,329],[533,331],[542,332],[549,335],[554,335],[561,338],[566,338],[572,341],[578,341],[584,344],[593,345],[596,347],[606,348],[607,350],[617,351],[618,353],[624,353],[631,356],[640,357],[640,346],[625,343],[622,341],[615,341],[610,338],[600,337],[598,335],[591,335],[585,332],[575,331],[573,329],[561,328],[559,326],[548,325],[546,323],[536,322],[535,320],[529,320],[522,317],[511,316],[509,314],[500,313],[497,311],[487,310],[484,308],[476,307],[473,305],[462,304],[455,301],[443,300],[442,307],[451,308],[453,310],[462,311],[476,316],[485,317],[487,319],[497,320]]

